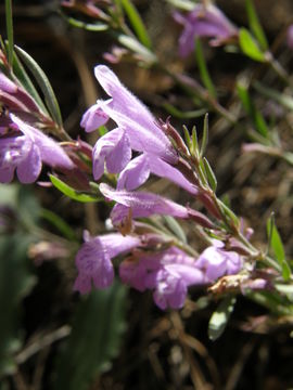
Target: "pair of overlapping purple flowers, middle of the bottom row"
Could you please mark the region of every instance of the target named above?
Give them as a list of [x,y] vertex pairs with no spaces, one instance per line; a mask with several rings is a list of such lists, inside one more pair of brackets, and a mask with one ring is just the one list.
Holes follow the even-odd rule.
[[120,264],[119,274],[124,283],[140,291],[153,290],[154,301],[163,310],[182,308],[188,287],[207,282],[195,260],[176,247],[127,259]]

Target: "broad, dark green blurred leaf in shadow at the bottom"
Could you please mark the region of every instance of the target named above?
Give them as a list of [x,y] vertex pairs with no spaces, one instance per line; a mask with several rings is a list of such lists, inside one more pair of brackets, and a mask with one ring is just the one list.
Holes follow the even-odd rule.
[[88,390],[111,366],[125,332],[126,288],[115,283],[82,298],[56,365],[54,390]]

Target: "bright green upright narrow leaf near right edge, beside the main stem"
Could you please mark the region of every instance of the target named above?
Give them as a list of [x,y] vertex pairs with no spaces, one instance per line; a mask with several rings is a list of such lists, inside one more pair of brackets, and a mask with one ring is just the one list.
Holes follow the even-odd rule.
[[282,276],[284,281],[288,281],[291,275],[290,265],[285,260],[285,252],[281,236],[275,224],[273,214],[267,221],[267,235],[268,235],[268,249],[271,248],[276,259],[282,268]]

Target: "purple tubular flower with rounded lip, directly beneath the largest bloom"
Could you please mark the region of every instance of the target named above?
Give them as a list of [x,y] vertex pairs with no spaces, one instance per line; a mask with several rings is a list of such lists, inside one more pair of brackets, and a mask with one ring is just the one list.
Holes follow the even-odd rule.
[[170,180],[193,195],[199,193],[198,187],[188,181],[177,168],[146,153],[133,158],[120,172],[117,188],[135,190],[142,185],[151,173]]

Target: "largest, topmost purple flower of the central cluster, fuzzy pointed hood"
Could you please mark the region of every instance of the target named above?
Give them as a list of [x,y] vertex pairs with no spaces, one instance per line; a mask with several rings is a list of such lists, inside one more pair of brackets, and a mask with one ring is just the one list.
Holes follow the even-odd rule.
[[[164,131],[156,125],[155,118],[149,109],[120,83],[117,76],[107,66],[95,66],[94,74],[111,99],[99,100],[86,112],[81,120],[81,126],[86,131],[92,131],[111,118],[117,123],[115,138],[120,140],[120,147],[127,151],[130,147],[137,152],[145,152],[158,156],[169,164],[176,164],[177,153]],[[124,135],[119,136],[119,132]],[[117,151],[113,152],[111,147],[107,147],[109,138],[111,135],[102,136],[94,147],[94,178],[101,177],[101,167],[105,158],[107,166],[110,161],[117,158]],[[129,156],[129,152],[127,156]]]

